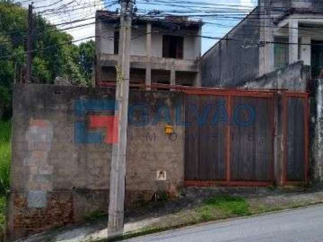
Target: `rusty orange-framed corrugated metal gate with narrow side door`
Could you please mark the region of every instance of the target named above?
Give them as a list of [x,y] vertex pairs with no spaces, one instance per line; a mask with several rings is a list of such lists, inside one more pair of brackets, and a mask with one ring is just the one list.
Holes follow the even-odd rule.
[[[275,92],[186,90],[187,186],[274,181]],[[307,179],[307,93],[283,92],[284,184]]]

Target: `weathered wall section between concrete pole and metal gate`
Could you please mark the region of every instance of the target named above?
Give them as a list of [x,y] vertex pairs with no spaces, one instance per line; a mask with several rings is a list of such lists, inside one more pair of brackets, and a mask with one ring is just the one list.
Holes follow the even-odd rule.
[[[178,118],[183,120],[183,113],[180,112],[178,116],[177,109],[183,106],[183,97],[183,94],[176,92],[131,93],[129,103],[146,105],[147,109],[132,106],[130,113],[126,188],[131,192],[126,195],[126,203],[150,200],[153,193],[149,191],[168,192],[170,196],[178,196],[183,187],[184,127],[175,124]],[[142,110],[148,111],[150,115],[142,115]],[[168,112],[172,123],[175,124],[172,136],[165,134],[165,122],[157,122],[157,119],[168,119]],[[153,113],[155,115],[151,115]],[[136,122],[136,118],[140,116],[147,118],[144,121],[147,125]],[[166,171],[166,180],[156,179],[157,170]]]

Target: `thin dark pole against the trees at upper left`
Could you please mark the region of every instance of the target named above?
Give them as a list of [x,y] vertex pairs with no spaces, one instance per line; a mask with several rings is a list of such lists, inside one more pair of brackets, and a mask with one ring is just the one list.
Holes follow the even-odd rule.
[[28,36],[27,36],[27,70],[25,81],[32,82],[32,32],[33,32],[33,3],[28,5]]

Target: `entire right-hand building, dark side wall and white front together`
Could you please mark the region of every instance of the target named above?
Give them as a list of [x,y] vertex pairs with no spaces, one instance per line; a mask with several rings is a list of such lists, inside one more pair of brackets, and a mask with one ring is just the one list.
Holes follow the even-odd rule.
[[[200,61],[202,85],[237,87],[302,61],[320,76],[323,2],[259,0]],[[229,65],[231,63],[231,65]]]

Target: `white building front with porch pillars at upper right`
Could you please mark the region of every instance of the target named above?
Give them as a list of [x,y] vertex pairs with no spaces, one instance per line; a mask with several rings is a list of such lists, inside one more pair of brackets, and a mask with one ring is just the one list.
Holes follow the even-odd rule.
[[267,43],[260,75],[303,61],[316,78],[323,68],[323,1],[259,0],[259,8],[260,37]]

